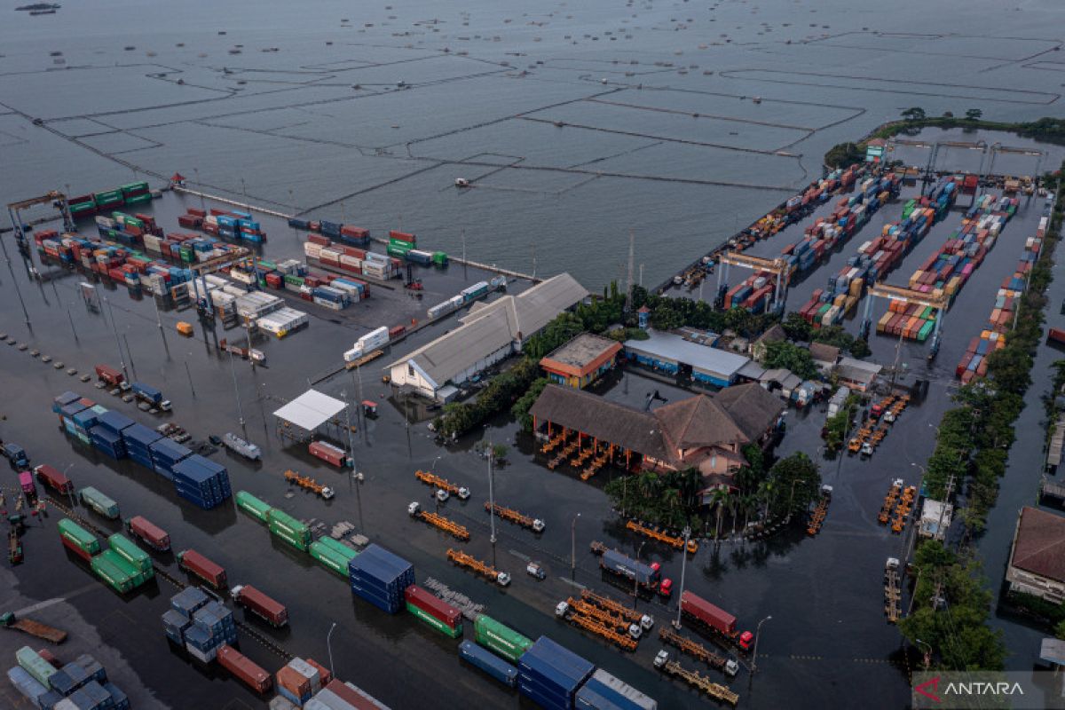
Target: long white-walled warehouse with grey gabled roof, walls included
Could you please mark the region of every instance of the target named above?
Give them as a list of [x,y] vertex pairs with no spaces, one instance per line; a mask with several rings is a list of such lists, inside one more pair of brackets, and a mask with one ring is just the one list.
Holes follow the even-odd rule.
[[478,301],[459,318],[459,328],[392,363],[391,382],[446,401],[455,396],[455,385],[521,351],[529,337],[587,296],[576,279],[560,274],[517,296]]

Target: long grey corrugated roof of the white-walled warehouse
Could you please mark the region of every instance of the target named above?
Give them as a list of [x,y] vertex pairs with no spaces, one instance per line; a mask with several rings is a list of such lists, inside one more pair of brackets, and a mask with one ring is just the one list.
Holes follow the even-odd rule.
[[462,326],[423,345],[391,366],[413,361],[436,385],[471,367],[478,360],[523,341],[562,311],[578,303],[588,291],[569,274],[559,274],[518,296],[490,303],[477,302],[460,317]]

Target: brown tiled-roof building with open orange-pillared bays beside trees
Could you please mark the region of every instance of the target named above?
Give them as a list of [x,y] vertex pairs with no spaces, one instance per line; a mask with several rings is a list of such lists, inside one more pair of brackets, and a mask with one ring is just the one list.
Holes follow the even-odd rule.
[[715,483],[743,463],[747,444],[767,446],[785,410],[757,384],[697,395],[646,412],[573,387],[547,385],[532,404],[536,435],[606,451],[626,469],[698,468]]

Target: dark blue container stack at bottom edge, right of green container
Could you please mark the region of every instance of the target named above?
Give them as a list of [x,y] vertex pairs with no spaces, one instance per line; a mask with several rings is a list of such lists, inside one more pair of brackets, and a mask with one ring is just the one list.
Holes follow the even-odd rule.
[[547,637],[540,637],[518,663],[518,690],[542,708],[572,710],[577,689],[595,666]]

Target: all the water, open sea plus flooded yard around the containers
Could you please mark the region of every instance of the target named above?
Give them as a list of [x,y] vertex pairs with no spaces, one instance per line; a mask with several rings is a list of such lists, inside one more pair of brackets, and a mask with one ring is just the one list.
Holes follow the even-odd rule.
[[[247,211],[256,224],[248,233],[261,231],[264,240],[223,241],[246,248],[264,270],[288,260],[306,262],[312,277],[307,283],[326,275],[360,279],[370,296],[334,310],[309,294],[301,297],[298,286],[263,286],[284,307],[306,313],[308,325],[281,339],[248,333],[224,325],[222,309],[215,319],[197,313],[192,287],[191,302],[178,304],[116,283],[106,271],[46,257],[34,235],[64,231],[47,199],[22,214],[34,222],[23,248],[7,221],[0,225],[0,441],[21,446],[31,467],[53,466],[76,490],[93,486],[120,508],[110,519],[76,494],[37,484],[47,505],[27,515],[18,539],[24,560],[0,566],[0,613],[58,627],[69,638],[53,647],[0,628],[0,657],[9,661],[2,667],[16,663],[22,646],[47,646],[61,663],[94,655],[133,708],[275,707],[273,690],[260,695],[218,663],[200,662],[167,640],[162,616],[171,597],[202,584],[178,563],[178,552],[194,549],[225,568],[228,587],[251,584],[288,609],[288,624],[276,628],[242,609],[228,590],[219,591],[237,624],[236,647],[248,659],[272,675],[293,658],[313,659],[392,708],[537,707],[460,658],[459,643],[475,638],[477,613],[530,640],[550,637],[663,710],[727,707],[728,692],[738,694],[738,707],[761,710],[910,707],[921,649],[885,616],[884,561],[912,557],[917,521],[911,516],[899,534],[880,524],[878,513],[894,480],[920,486],[944,414],[955,406],[955,368],[970,357],[1000,287],[1050,210],[1045,193],[1007,191],[1004,182],[1056,170],[1065,161],[1060,145],[985,129],[908,130],[887,143],[891,159],[912,168],[899,179],[897,194],[789,280],[782,315],[830,288],[830,279],[851,265],[864,244],[915,209],[912,201],[957,176],[956,199],[881,279],[905,287],[945,248],[981,195],[993,196],[984,198],[990,202],[1016,200],[994,247],[939,315],[934,358],[933,336],[879,333],[888,303],[872,301],[871,353],[865,359],[885,369],[870,401],[887,390],[912,399],[871,457],[849,455],[846,444],[838,455],[825,452],[824,399],[831,391],[810,407],[785,409],[783,426],[774,429],[774,459],[804,452],[818,465],[820,482],[832,486],[823,523],[812,533],[806,511],[797,515],[801,521],[780,516],[769,530],[753,525],[744,533],[744,518],[759,518],[760,503],[744,515],[741,506],[748,503],[733,496],[715,539],[723,506],[709,502],[707,489],[700,493],[701,527],[692,531],[698,551],[686,556],[627,528],[629,515],[613,509],[608,485],[622,479],[640,484],[639,476],[626,477],[617,457],[618,465],[588,469],[569,463],[550,450],[550,419],[546,427],[535,423],[535,436],[509,406],[445,443],[430,423],[448,404],[416,394],[414,365],[406,384],[390,381],[393,363],[415,363],[412,353],[426,347],[430,354],[422,356],[419,367],[437,366],[431,344],[468,329],[463,320],[476,323],[471,316],[481,309],[509,309],[508,324],[527,317],[519,315],[522,294],[536,300],[536,290],[562,273],[596,298],[611,283],[623,290],[630,282],[714,303],[720,264],[691,286],[674,282],[677,269],[717,253],[734,235],[742,238],[746,225],[828,174],[821,156],[833,145],[867,138],[914,104],[929,116],[961,116],[972,108],[989,120],[1060,115],[1052,79],[1060,71],[1053,52],[1061,42],[1047,35],[1056,15],[1045,9],[996,9],[984,17],[954,2],[890,12],[870,6],[863,13],[836,2],[792,5],[593,0],[531,9],[507,0],[441,7],[412,0],[358,12],[334,2],[267,2],[248,13],[194,0],[180,18],[173,9],[149,4],[131,12],[110,1],[45,16],[4,11],[11,20],[0,22],[4,203],[52,189],[67,197],[99,194],[145,180],[152,198],[117,210],[143,214],[166,234],[200,237],[201,229],[179,226],[179,218]],[[913,34],[917,16],[927,34]],[[925,170],[928,181],[915,180]],[[171,180],[176,172],[180,180]],[[857,183],[886,175],[870,168]],[[966,176],[981,178],[980,184],[963,188]],[[787,255],[804,230],[856,193],[833,194],[772,236],[746,244],[742,255]],[[292,227],[290,216],[368,229],[368,245],[347,245],[355,251],[384,254],[389,245],[388,253],[396,255],[390,231],[416,234],[419,249],[446,252],[449,263],[411,263],[407,257],[388,279],[325,266],[307,260],[309,233],[321,232]],[[80,236],[97,237],[92,217],[79,217],[76,227]],[[343,246],[331,238],[329,248]],[[186,265],[177,258],[168,263]],[[690,267],[679,271],[688,273]],[[733,265],[721,283],[733,288],[752,274]],[[141,275],[148,283],[146,271]],[[1065,282],[1054,276],[1046,325],[1061,328]],[[417,286],[407,287],[408,279]],[[463,297],[456,310],[429,316],[430,308],[480,282],[491,282],[490,293]],[[862,334],[871,298],[863,292],[836,321],[845,332]],[[496,308],[503,301],[506,308]],[[186,327],[189,336],[180,332]],[[373,341],[382,327],[391,336]],[[528,334],[515,330],[512,337],[521,343]],[[489,335],[481,337],[487,342]],[[363,350],[374,352],[359,367],[346,368],[345,352],[358,349],[360,339],[376,343]],[[730,339],[725,334],[715,350]],[[262,362],[227,351],[223,340],[252,348]],[[521,368],[521,356],[497,354],[486,356],[487,366],[440,398],[473,402],[497,376]],[[986,530],[969,541],[957,519],[949,528],[948,544],[971,545],[982,562],[992,592],[988,624],[1002,633],[1007,671],[1046,667],[1039,644],[1052,635],[1009,602],[1003,575],[1018,510],[1039,500],[1048,424],[1041,398],[1050,393],[1052,363],[1062,357],[1061,346],[1045,340],[1033,350],[1033,383]],[[169,410],[149,413],[136,398],[127,401],[124,391],[97,386],[99,365],[158,387]],[[622,357],[587,392],[620,408],[602,410],[603,419],[643,422],[641,416],[656,416],[693,395],[717,396],[717,386],[689,375]],[[350,457],[350,467],[312,456],[306,442],[296,441],[294,425],[275,415],[309,389],[349,403],[349,413],[335,416],[315,437]],[[309,526],[313,536],[329,536],[342,525],[360,549],[373,543],[409,561],[417,587],[461,609],[464,632],[449,638],[431,622],[420,623],[409,608],[386,613],[353,593],[346,574],[294,549],[234,499],[202,510],[164,476],[85,443],[52,410],[52,400],[67,391],[151,430],[167,423],[182,427],[191,435],[185,446],[226,467],[233,494],[250,493]],[[261,460],[217,444],[214,437],[227,433],[258,446]],[[578,434],[578,446],[590,435]],[[506,447],[502,460],[490,463],[481,452],[486,442]],[[595,441],[595,451],[599,446]],[[417,470],[470,495],[442,501],[435,486],[415,477]],[[286,472],[313,482],[305,480],[301,488],[286,480]],[[1048,480],[1058,482],[1052,474]],[[0,477],[4,514],[14,510],[19,484],[15,470]],[[318,485],[333,495],[315,494]],[[961,489],[956,502],[966,505],[969,494]],[[543,530],[490,521],[490,496],[542,522]],[[421,513],[409,512],[412,502]],[[1038,508],[1060,512],[1052,505]],[[433,527],[431,515],[416,519],[424,513],[461,526],[469,540]],[[169,533],[171,548],[151,551],[154,576],[119,593],[76,554],[58,524],[78,521],[106,547],[106,536],[124,531],[122,521],[133,515]],[[601,569],[593,543],[660,565],[672,595],[635,595],[632,581]],[[449,549],[508,573],[509,584],[453,563]],[[542,579],[526,574],[529,563],[540,565]],[[681,618],[678,585],[735,615],[736,631],[756,633],[753,653],[738,651],[683,617],[682,637],[738,660],[735,677],[661,640],[659,633],[672,628],[667,625]],[[906,578],[903,615],[907,606],[921,604],[913,588]],[[593,624],[567,623],[557,605],[585,591],[635,609],[637,618],[651,615],[654,627],[638,643],[624,634],[611,643],[591,630]],[[635,649],[620,647],[629,644]],[[714,692],[724,699],[656,667],[660,650],[717,683]],[[0,706],[36,707],[2,682]]]

